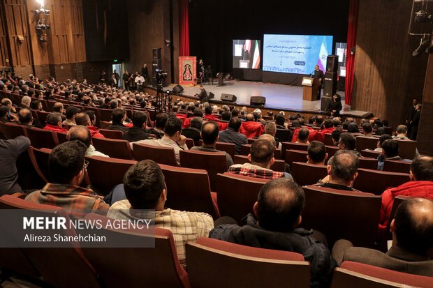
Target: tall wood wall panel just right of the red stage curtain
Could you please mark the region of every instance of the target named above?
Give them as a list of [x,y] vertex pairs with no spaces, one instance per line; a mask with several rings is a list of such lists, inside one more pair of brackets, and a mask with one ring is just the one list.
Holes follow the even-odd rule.
[[411,1],[360,1],[352,109],[393,127],[423,93],[427,56],[411,56],[420,38],[407,32],[410,13]]

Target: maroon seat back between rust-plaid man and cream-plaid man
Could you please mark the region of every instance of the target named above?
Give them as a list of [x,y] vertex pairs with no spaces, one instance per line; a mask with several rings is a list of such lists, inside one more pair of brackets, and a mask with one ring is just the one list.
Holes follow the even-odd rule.
[[107,195],[115,185],[122,184],[126,171],[137,162],[100,156],[86,157],[86,160],[91,185],[101,195]]

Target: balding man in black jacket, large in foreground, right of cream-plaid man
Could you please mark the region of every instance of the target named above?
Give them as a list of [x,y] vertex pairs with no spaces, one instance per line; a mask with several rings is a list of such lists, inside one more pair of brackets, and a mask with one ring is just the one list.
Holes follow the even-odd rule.
[[302,220],[305,195],[290,179],[272,180],[260,189],[247,225],[220,225],[209,236],[257,248],[286,250],[304,255],[311,263],[311,287],[328,287],[337,262],[330,251],[313,238],[313,232],[297,228]]

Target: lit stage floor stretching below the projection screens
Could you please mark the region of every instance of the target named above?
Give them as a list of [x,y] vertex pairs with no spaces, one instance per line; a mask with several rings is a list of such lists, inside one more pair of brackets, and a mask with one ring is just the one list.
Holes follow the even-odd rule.
[[[215,94],[214,100],[220,100],[221,93],[233,94],[237,97],[236,103],[238,105],[249,105],[251,96],[264,96],[266,98],[265,108],[270,109],[284,109],[293,111],[320,111],[321,101],[304,101],[302,100],[302,87],[290,86],[283,84],[271,84],[263,82],[249,82],[249,81],[235,81],[225,80],[224,86],[203,85],[209,94]],[[198,86],[182,85],[184,87],[183,95],[193,96],[200,93]],[[173,86],[169,87],[170,89]],[[323,91],[322,91],[323,92]],[[344,91],[338,92],[342,96],[343,112],[342,114],[351,114],[354,116],[362,116],[368,112],[353,111],[349,105],[344,104]]]

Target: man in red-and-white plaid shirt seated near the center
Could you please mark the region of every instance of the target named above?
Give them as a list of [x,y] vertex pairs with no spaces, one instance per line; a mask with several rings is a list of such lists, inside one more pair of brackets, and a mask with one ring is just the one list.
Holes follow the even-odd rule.
[[[272,137],[272,136],[270,136]],[[228,173],[261,179],[279,179],[287,177],[293,180],[291,174],[277,172],[270,169],[274,164],[275,146],[268,139],[258,139],[251,144],[251,153],[248,155],[249,162],[231,165]]]

